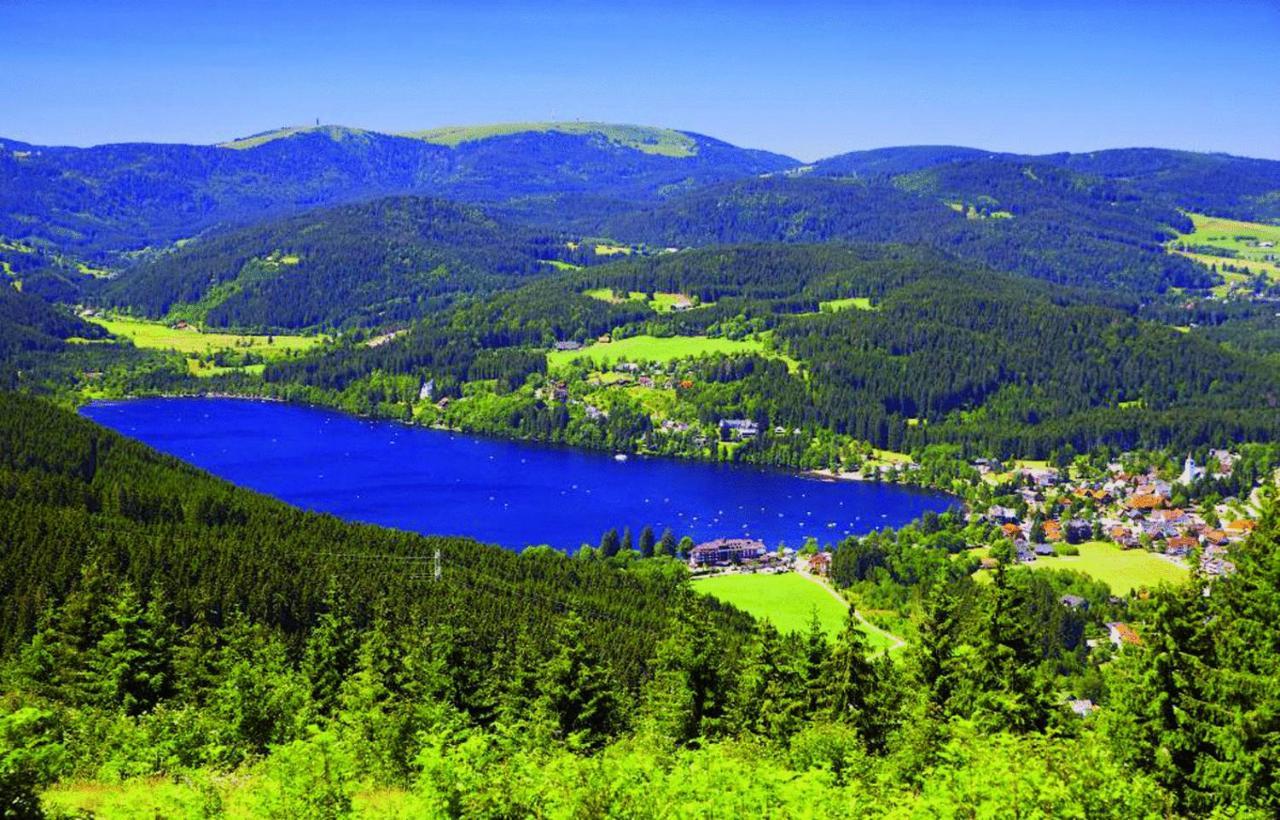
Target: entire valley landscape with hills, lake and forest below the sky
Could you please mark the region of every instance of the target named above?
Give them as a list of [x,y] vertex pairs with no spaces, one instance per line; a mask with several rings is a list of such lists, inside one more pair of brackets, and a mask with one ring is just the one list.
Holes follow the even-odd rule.
[[0,797],[1274,811],[1280,162],[315,122],[0,139]]

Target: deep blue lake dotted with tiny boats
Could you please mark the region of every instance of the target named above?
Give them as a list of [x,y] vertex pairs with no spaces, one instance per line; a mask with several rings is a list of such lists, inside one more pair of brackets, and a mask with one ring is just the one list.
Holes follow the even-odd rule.
[[351,521],[518,549],[609,527],[800,546],[941,512],[954,499],[745,466],[630,457],[370,421],[275,402],[100,402],[88,418],[238,485]]

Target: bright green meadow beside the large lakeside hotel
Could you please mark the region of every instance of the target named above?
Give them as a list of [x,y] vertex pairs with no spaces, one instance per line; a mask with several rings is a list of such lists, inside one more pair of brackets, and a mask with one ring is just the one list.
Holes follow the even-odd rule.
[[[809,628],[814,613],[822,628],[835,637],[845,624],[847,606],[832,594],[799,573],[727,574],[699,578],[694,588],[755,618],[768,619],[780,632]],[[878,629],[863,628],[873,650],[888,649],[893,640]]]

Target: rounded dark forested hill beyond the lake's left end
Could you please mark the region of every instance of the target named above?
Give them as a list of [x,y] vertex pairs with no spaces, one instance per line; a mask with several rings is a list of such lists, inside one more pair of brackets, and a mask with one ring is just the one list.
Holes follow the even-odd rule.
[[392,197],[214,233],[108,281],[99,298],[211,326],[311,327],[415,319],[460,293],[554,270],[562,239],[483,210]]

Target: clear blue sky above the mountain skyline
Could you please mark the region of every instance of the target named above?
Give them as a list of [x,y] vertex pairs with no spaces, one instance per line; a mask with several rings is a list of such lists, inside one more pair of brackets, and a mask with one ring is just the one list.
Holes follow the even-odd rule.
[[58,145],[590,119],[1280,159],[1280,0],[0,0],[0,136]]

